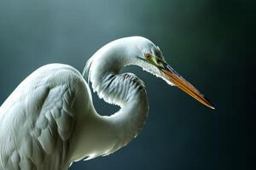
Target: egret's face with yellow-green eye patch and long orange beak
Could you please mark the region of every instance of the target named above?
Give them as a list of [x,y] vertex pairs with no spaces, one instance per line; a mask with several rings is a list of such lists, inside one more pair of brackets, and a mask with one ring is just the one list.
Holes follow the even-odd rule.
[[143,44],[143,46],[139,48],[140,52],[137,55],[137,58],[139,60],[138,65],[143,67],[143,70],[154,74],[156,77],[164,79],[172,86],[176,86],[186,94],[189,94],[191,97],[201,102],[201,104],[207,105],[207,107],[211,109],[215,109],[212,103],[201,94],[198,89],[181,77],[177,71],[172,69],[163,57],[159,47],[155,46],[154,43],[150,42],[148,39],[144,39],[141,44]]

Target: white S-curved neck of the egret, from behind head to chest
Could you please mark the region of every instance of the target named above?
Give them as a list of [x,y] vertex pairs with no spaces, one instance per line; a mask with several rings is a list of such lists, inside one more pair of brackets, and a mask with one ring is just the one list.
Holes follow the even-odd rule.
[[125,65],[135,65],[134,60],[128,58],[130,55],[123,53],[124,48],[122,54],[119,48],[114,44],[111,48],[103,47],[90,58],[88,68],[93,91],[109,104],[120,106],[112,116],[102,116],[113,127],[113,133],[118,133],[119,140],[110,153],[136,137],[148,116],[148,98],[143,82],[134,74],[119,74]]

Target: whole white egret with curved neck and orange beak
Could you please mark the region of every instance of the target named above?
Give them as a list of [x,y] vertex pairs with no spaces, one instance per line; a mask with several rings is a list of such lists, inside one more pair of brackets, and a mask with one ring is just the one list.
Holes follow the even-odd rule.
[[119,73],[126,65],[142,67],[213,109],[153,42],[121,38],[100,48],[84,69],[94,92],[120,110],[100,116],[84,75],[69,65],[44,65],[0,107],[0,170],[67,170],[73,161],[107,156],[128,144],[146,121],[148,98],[138,77]]

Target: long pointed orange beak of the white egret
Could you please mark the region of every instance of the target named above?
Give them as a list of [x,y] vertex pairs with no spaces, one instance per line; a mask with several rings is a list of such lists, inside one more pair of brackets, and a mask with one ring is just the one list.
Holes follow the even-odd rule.
[[212,103],[204,97],[203,94],[199,92],[192,84],[187,82],[183,77],[179,76],[176,71],[172,69],[170,65],[165,63],[165,68],[160,68],[160,71],[166,77],[166,79],[172,82],[177,88],[180,88],[186,94],[189,94],[191,97],[201,102],[203,105],[207,105],[207,107],[211,109],[215,109]]

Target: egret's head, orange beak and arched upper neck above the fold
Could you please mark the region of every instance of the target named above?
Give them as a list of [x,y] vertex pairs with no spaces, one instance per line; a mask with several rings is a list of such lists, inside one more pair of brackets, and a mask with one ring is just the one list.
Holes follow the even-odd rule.
[[[160,48],[145,37],[124,37],[109,42],[88,60],[83,75],[87,72],[88,80],[94,82],[92,87],[96,89],[102,78],[99,75],[105,75],[109,70],[117,73],[125,65],[138,65],[154,76],[164,79],[168,84],[180,88],[203,105],[214,109],[211,102],[198,89],[167,64]],[[90,74],[93,74],[91,79]]]

